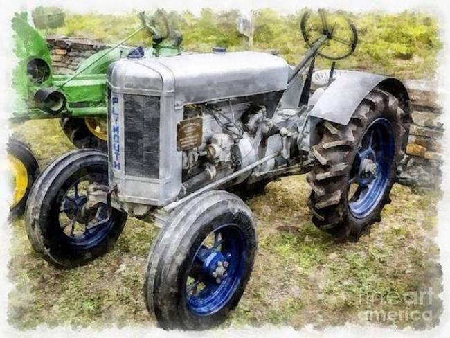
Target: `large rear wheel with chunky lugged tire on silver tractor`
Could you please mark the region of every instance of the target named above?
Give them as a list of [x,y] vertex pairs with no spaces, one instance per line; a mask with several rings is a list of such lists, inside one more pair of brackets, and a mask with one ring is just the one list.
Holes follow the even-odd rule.
[[[324,121],[318,126],[320,140],[312,148],[314,166],[307,174],[311,186],[308,206],[313,213],[312,221],[318,229],[327,231],[339,241],[357,241],[363,233],[370,231],[372,224],[381,221],[381,211],[385,204],[390,203],[389,193],[396,181],[397,166],[404,158],[409,123],[410,116],[399,107],[395,96],[374,89],[364,98],[348,125]],[[375,132],[377,128],[379,132]],[[386,132],[382,131],[384,129]],[[369,131],[371,136],[366,134]],[[386,137],[382,137],[384,133]],[[390,143],[391,134],[393,144]],[[361,158],[372,156],[369,155],[370,150],[363,149],[372,149],[374,137],[379,142],[374,148],[378,147],[379,150],[373,154],[379,154],[377,161],[380,163],[375,161],[376,168],[363,167]],[[365,146],[360,144],[362,141],[366,143]],[[368,142],[370,145],[367,145]],[[381,151],[385,148],[386,153]],[[370,161],[366,163],[371,165]],[[390,163],[390,166],[386,163]],[[361,171],[361,168],[371,168],[373,172]],[[377,175],[383,177],[376,181],[373,177]],[[366,176],[372,181],[364,181]],[[361,190],[357,190],[359,193],[355,193],[357,196],[349,197],[352,178],[363,184]],[[379,190],[375,185],[377,182],[382,183]],[[372,188],[368,188],[370,186]],[[374,194],[373,199],[369,198],[372,197],[368,195],[370,191]],[[364,204],[363,198],[366,196]],[[359,199],[362,202],[358,202]]]

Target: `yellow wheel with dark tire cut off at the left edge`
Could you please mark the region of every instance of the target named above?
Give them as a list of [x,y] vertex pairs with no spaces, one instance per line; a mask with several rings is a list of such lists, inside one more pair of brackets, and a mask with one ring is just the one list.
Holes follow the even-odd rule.
[[16,217],[25,211],[28,193],[39,175],[39,165],[33,152],[16,139],[8,142],[8,162],[13,184],[10,217]]

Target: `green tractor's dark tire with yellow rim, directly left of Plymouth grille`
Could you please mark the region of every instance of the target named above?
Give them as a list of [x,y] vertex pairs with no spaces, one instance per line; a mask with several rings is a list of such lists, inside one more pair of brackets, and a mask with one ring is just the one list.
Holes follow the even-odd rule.
[[[100,129],[100,118],[61,118],[60,125],[67,138],[79,149],[107,151],[107,132]],[[96,127],[98,130],[96,130]]]

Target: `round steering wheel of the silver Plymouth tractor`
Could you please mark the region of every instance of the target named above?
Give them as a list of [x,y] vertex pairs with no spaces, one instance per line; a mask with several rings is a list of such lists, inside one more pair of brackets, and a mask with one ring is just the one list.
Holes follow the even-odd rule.
[[303,39],[309,47],[325,36],[318,55],[330,60],[341,60],[351,55],[357,48],[358,33],[350,19],[343,13],[335,12],[327,15],[325,10],[318,10],[318,15],[305,12],[300,22]]

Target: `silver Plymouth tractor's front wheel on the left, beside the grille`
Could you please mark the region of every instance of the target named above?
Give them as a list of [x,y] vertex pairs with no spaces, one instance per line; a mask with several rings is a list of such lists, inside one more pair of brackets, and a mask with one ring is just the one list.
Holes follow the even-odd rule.
[[76,267],[105,254],[122,233],[127,215],[101,204],[82,213],[89,184],[108,184],[107,155],[75,150],[39,176],[26,206],[33,249],[58,267]]

